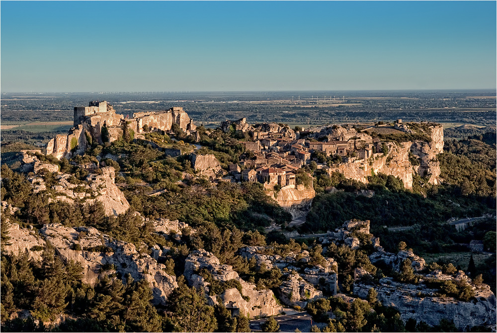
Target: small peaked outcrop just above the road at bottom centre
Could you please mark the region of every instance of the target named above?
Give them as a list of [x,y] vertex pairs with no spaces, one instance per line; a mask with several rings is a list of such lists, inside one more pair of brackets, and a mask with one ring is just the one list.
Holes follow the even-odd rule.
[[286,280],[277,289],[278,299],[287,306],[305,308],[309,301],[323,297],[321,291],[306,282],[298,274],[288,274]]

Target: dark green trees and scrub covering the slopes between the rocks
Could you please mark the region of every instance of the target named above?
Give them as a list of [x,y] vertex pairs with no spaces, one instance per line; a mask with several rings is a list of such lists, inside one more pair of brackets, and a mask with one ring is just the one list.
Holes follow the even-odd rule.
[[[238,162],[242,154],[248,154],[240,144],[239,140],[245,140],[240,133],[223,133],[202,127],[200,133],[204,147],[197,153],[215,155],[222,167],[226,168]],[[162,148],[186,153],[193,151],[190,145],[194,143],[192,137],[186,137],[177,128],[174,136],[175,140],[164,133],[148,133],[146,139]],[[1,201],[19,208],[8,219],[21,227],[33,226],[36,229],[47,223],[88,226],[117,240],[135,244],[141,253],[150,254],[150,247],[156,244],[169,249],[164,260],[166,272],[177,278],[179,287],[170,296],[175,302],[154,306],[148,283],[133,281],[130,276],[120,276],[117,272],[111,274],[110,279],[101,278],[95,286],[85,284],[81,280],[82,267],[72,261],[63,262],[48,244],[44,249],[37,249],[43,250],[42,262],[30,260],[27,253],[2,253],[2,331],[249,332],[248,318],[232,317],[222,302],[216,306],[207,305],[202,292],[185,284],[182,277],[184,260],[190,251],[199,248],[212,252],[221,264],[232,265],[257,289],[275,290],[282,283],[285,272],[277,267],[267,269],[264,265],[257,265],[255,259],[243,258],[239,254],[240,248],[269,245],[265,254],[283,257],[290,252],[308,251],[310,260],[297,264],[299,270],[322,264],[325,257],[332,257],[338,262],[339,288],[345,294],[352,292],[355,268],[366,270],[375,281],[384,275],[393,275],[398,281],[417,282],[407,261],[399,273],[373,265],[368,258],[373,251],[371,240],[360,233],[354,234],[361,240],[361,247],[355,250],[334,244],[324,250],[309,240],[301,244],[288,241],[279,232],[264,235],[264,227],[273,223],[287,230],[286,224],[291,216],[264,193],[260,184],[211,183],[195,173],[187,154],[172,157],[146,142],[132,142],[131,137],[104,145],[93,143],[84,156],[70,161],[38,155],[42,161],[59,164],[61,172],[73,174],[70,181],[79,185],[86,182],[88,175],[82,166],[91,166],[91,172],[96,173],[101,172],[101,167],[114,167],[116,183],[131,204],[124,214],[107,217],[98,202],[91,205],[80,200],[76,200],[74,205],[50,202],[56,192],[47,189],[34,194],[26,174],[16,169],[19,164],[1,167]],[[381,238],[386,250],[396,252],[399,243],[405,242],[404,248],[407,243],[420,254],[463,252],[467,251],[463,244],[482,240],[486,250],[494,252],[486,261],[475,264],[472,257],[473,263],[470,261],[467,267],[457,267],[444,260],[437,260],[433,265],[449,274],[461,268],[474,280],[491,284],[495,291],[495,219],[479,221],[459,232],[453,226],[443,224],[452,217],[495,213],[496,145],[492,144],[490,137],[491,134],[484,133],[461,141],[447,141],[445,152],[439,156],[446,183],[425,186],[422,193],[420,187],[406,190],[401,180],[384,174],[371,175],[367,185],[347,180],[337,172],[329,176],[312,162],[297,174],[298,183],[314,184],[318,193],[307,223],[300,227],[300,231],[306,234],[326,232],[345,220],[370,220],[372,233]],[[13,161],[15,152],[30,148],[21,144],[2,147],[2,159],[4,154],[11,154]],[[96,157],[101,158],[100,161]],[[323,157],[315,154],[313,158]],[[56,183],[55,173],[45,171],[42,176],[47,185]],[[338,192],[328,193],[331,187]],[[150,196],[155,190],[162,192]],[[135,216],[135,211],[145,218],[186,222],[196,232],[190,234],[184,230],[179,238],[160,236],[152,231],[149,223],[143,223]],[[5,220],[2,215],[2,244],[9,242]],[[388,230],[388,227],[397,226],[412,226],[413,229],[404,232]],[[112,267],[105,269],[112,270]],[[219,295],[226,288],[241,289],[236,280],[220,282],[206,270],[197,273],[211,283],[209,296]],[[479,277],[479,274],[483,276]],[[440,294],[465,301],[474,296],[464,284],[433,282],[431,287],[438,288]],[[29,312],[32,317],[10,320],[10,316],[20,310]],[[307,311],[315,321],[327,323],[322,332],[455,331],[453,323],[447,321],[436,327],[412,320],[403,322],[396,310],[378,302],[374,291],[368,295],[367,302],[356,299],[348,303],[341,298],[329,297],[310,302]],[[48,327],[34,322],[56,320],[61,313],[73,319]],[[261,328],[264,332],[277,331],[278,325],[274,319],[269,319]],[[312,330],[319,331],[317,327]]]

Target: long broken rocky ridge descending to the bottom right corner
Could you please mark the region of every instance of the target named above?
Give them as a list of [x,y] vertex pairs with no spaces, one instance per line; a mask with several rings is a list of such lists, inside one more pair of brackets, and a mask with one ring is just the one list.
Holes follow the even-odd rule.
[[[458,271],[455,276],[442,274],[439,270],[426,272],[425,261],[414,254],[413,250],[400,250],[397,254],[386,252],[380,246],[380,241],[369,233],[369,221],[346,221],[341,228],[328,232],[327,237],[320,238],[323,245],[345,244],[352,249],[358,249],[361,241],[353,237],[353,232],[370,235],[370,241],[375,252],[369,255],[373,264],[381,263],[390,267],[394,272],[400,272],[401,264],[409,259],[413,270],[419,276],[418,284],[402,283],[393,278],[382,278],[377,283],[371,282],[372,277],[363,269],[356,269],[353,292],[358,297],[365,299],[369,289],[373,288],[378,293],[378,300],[384,306],[391,306],[399,310],[401,318],[407,321],[413,318],[424,321],[429,325],[438,325],[441,319],[454,320],[460,330],[473,326],[495,326],[496,297],[488,285],[476,286],[470,284],[475,292],[475,297],[468,302],[457,300],[453,297],[442,297],[438,289],[430,289],[424,281],[454,281],[465,280],[471,282],[463,271]],[[424,273],[423,273],[424,272]],[[365,278],[369,276],[369,278]],[[429,316],[426,316],[429,314]]]

